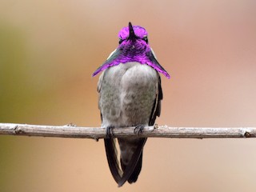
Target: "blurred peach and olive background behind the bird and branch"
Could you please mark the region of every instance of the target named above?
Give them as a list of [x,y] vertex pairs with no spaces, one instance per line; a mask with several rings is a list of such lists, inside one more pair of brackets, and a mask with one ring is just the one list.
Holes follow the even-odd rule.
[[[158,125],[256,126],[256,2],[0,2],[0,122],[100,126],[98,76],[128,22],[162,75]],[[255,139],[150,138],[118,188],[102,140],[0,136],[0,191],[255,191]]]

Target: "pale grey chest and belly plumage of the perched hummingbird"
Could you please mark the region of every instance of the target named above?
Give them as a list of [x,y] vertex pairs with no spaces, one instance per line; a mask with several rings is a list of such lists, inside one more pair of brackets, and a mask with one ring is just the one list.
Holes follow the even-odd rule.
[[148,125],[158,90],[158,72],[138,62],[105,70],[99,80],[102,126]]

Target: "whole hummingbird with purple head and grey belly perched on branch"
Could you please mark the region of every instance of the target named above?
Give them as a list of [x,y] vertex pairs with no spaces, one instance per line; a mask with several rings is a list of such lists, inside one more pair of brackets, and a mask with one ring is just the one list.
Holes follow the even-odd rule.
[[[153,126],[160,116],[162,73],[170,75],[158,63],[142,26],[126,26],[120,30],[119,45],[94,75],[98,80],[98,107],[102,127]],[[136,182],[142,169],[142,150],[146,138],[118,138],[118,160],[114,138],[104,139],[110,171],[118,186]],[[119,162],[121,168],[119,167]]]

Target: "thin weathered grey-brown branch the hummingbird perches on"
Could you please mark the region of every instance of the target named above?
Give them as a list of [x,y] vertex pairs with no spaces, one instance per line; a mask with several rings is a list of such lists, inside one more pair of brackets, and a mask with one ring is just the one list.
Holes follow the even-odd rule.
[[[56,138],[106,138],[106,128],[67,126],[38,126],[0,123],[0,134],[56,137]],[[170,127],[146,126],[141,134],[134,127],[114,128],[114,138],[256,138],[256,127]]]

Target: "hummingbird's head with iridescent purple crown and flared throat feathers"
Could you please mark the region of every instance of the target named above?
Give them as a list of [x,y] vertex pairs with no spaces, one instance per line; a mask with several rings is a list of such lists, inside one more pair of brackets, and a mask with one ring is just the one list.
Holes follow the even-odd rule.
[[129,26],[123,27],[118,36],[120,39],[118,48],[110,54],[102,66],[94,71],[93,76],[110,66],[126,62],[139,62],[153,67],[154,70],[164,74],[166,78],[170,78],[170,75],[155,58],[154,51],[148,44],[147,32],[142,26],[132,26],[129,22]]

